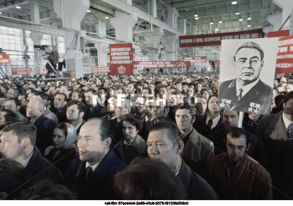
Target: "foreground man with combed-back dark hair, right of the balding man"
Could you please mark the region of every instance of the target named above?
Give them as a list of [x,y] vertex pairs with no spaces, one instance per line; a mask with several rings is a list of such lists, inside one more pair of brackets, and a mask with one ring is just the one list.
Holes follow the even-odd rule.
[[181,133],[175,123],[161,121],[153,124],[147,139],[151,159],[162,160],[186,188],[187,198],[192,200],[218,200],[213,188],[188,167],[180,156],[183,151]]

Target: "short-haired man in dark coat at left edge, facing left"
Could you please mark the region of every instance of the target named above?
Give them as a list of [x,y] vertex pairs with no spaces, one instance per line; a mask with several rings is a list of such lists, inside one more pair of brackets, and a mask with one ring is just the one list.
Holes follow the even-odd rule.
[[[27,172],[26,186],[33,186],[37,181],[51,180],[62,183],[61,172],[42,157],[35,146],[37,128],[28,123],[14,123],[3,129],[0,139],[0,153],[6,158],[20,163]],[[19,141],[19,139],[21,139]],[[6,143],[9,142],[10,144]]]

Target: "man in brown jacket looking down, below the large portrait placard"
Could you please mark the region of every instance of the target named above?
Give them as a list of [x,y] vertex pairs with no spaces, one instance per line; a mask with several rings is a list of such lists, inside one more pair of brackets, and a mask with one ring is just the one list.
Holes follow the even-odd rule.
[[206,180],[219,200],[272,200],[271,176],[246,154],[249,142],[246,130],[229,128],[224,139],[227,153],[207,159]]

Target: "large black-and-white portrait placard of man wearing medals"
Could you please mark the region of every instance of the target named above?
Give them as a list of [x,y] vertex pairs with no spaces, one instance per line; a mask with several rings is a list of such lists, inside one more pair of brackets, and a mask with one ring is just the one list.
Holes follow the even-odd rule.
[[219,109],[270,114],[277,45],[278,38],[222,40]]

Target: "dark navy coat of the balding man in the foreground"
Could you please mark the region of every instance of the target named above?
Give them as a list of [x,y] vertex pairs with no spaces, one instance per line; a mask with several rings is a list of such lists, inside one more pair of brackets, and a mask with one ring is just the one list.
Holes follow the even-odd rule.
[[110,149],[96,170],[86,179],[86,162],[76,158],[67,167],[64,184],[76,192],[79,200],[115,200],[113,177],[125,167],[125,163]]

